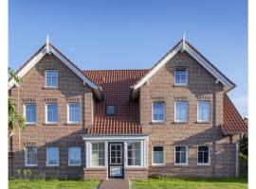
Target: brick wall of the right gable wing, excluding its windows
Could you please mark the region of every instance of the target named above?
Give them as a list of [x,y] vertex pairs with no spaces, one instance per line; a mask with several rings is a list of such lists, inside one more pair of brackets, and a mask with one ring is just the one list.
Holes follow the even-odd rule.
[[[174,86],[176,67],[188,69],[188,86]],[[196,60],[184,52],[177,53],[140,89],[140,124],[144,133],[149,133],[149,176],[202,176],[233,177],[235,159],[234,144],[224,138],[220,124],[223,122],[223,88],[215,83],[210,75]],[[164,101],[166,120],[164,123],[152,123],[152,103]],[[174,122],[174,102],[186,100],[189,103],[188,122]],[[197,122],[197,102],[210,101],[210,122]],[[165,165],[152,165],[152,147],[165,146]],[[174,146],[188,146],[186,166],[174,165]],[[197,165],[197,146],[210,146],[210,165]],[[221,149],[229,155],[229,160]],[[229,161],[229,163],[228,163]],[[226,169],[229,172],[225,171]]]

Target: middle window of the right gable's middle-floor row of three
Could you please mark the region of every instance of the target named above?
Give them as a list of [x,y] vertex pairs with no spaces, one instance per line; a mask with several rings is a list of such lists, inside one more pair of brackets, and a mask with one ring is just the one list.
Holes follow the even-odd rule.
[[178,101],[175,102],[174,107],[175,122],[186,122],[188,121],[188,102]]

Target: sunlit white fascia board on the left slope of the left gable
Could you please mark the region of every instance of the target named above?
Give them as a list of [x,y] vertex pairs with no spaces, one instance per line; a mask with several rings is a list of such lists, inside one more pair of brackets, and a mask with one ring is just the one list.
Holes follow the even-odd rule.
[[[18,77],[24,77],[27,72],[38,62],[40,61],[44,56],[46,55],[46,47],[43,48],[32,60],[29,60],[29,62],[26,64],[26,66],[19,71],[17,74]],[[14,78],[11,78],[9,80],[8,86],[9,89],[15,84]]]

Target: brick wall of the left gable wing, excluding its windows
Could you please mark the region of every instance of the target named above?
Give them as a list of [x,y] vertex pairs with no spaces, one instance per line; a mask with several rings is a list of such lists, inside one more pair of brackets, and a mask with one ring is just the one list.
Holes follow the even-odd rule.
[[[45,71],[47,69],[58,70],[58,89],[45,88]],[[61,177],[83,177],[84,167],[84,143],[81,134],[84,128],[92,125],[92,104],[93,94],[88,86],[84,86],[82,79],[77,77],[61,60],[54,55],[46,55],[40,60],[27,75],[23,77],[19,91],[17,87],[10,90],[11,96],[18,104],[19,111],[24,112],[24,104],[27,102],[36,103],[36,125],[27,126],[27,129],[20,132],[14,130],[12,140],[13,158],[9,161],[9,172],[16,173],[17,169],[29,168],[35,174],[46,172],[46,176]],[[46,125],[45,105],[48,101],[54,100],[59,106],[58,125]],[[67,103],[80,102],[81,104],[81,124],[67,124]],[[27,145],[28,144],[28,145]],[[38,147],[38,166],[25,167],[25,146]],[[46,147],[60,147],[60,166],[46,167]],[[82,166],[68,166],[68,147],[82,147]]]

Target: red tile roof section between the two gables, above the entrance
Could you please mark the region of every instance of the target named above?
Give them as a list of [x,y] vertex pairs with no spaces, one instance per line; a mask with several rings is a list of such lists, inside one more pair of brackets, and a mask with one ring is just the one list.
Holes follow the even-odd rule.
[[[138,100],[131,100],[131,86],[148,70],[93,70],[83,73],[102,87],[104,100],[96,101],[94,126],[88,134],[139,134]],[[117,106],[116,115],[106,115],[106,106]]]

